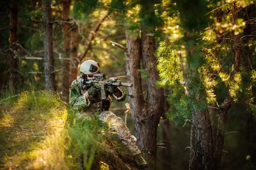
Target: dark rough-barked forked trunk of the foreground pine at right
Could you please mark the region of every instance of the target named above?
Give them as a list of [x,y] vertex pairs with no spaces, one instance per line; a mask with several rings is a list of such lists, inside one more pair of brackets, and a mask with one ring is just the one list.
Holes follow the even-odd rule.
[[[239,6],[234,3],[231,8],[231,17],[233,24],[235,24],[238,19]],[[216,13],[216,18],[218,22],[221,22],[222,11]],[[221,43],[223,38],[221,34],[218,34],[217,42]],[[231,81],[235,82],[236,73],[240,70],[240,60],[241,60],[241,39],[240,35],[235,32],[234,34],[234,69],[231,73]],[[216,53],[218,56],[219,51]],[[216,74],[216,73],[215,73]],[[206,111],[196,111],[192,110],[193,117],[193,126],[195,128],[195,162],[193,165],[194,170],[219,170],[221,157],[223,153],[224,146],[224,130],[227,120],[227,113],[230,110],[230,107],[233,103],[233,97],[230,95],[230,92],[227,94],[226,99],[219,107],[219,116],[218,116],[218,126],[217,132],[215,130],[216,118],[215,111],[213,108],[209,108]],[[213,105],[214,107],[214,105]],[[209,112],[209,113],[208,113]],[[192,145],[192,144],[191,144]],[[191,163],[191,157],[190,157]]]

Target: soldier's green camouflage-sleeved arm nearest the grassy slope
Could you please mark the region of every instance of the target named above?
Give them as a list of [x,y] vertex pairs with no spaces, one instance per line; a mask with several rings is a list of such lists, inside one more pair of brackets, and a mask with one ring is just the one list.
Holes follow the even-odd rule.
[[88,105],[90,105],[90,102],[87,100],[86,93],[81,95],[79,89],[80,88],[76,80],[72,82],[72,85],[70,86],[70,105],[75,110],[81,110],[83,108],[87,108]]

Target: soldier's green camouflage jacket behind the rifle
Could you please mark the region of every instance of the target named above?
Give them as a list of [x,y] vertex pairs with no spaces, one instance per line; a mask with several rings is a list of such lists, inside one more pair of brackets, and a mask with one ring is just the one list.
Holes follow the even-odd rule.
[[83,79],[79,76],[70,86],[70,105],[75,110],[88,112],[108,111],[112,104],[110,96],[116,99],[117,102],[122,102],[126,98],[126,93],[118,87],[118,90],[122,93],[120,97],[107,91],[107,98],[102,100],[99,91],[98,94],[90,95],[89,98],[86,99],[85,92],[90,88],[90,85],[84,85],[84,90],[82,90],[81,81],[83,81]]

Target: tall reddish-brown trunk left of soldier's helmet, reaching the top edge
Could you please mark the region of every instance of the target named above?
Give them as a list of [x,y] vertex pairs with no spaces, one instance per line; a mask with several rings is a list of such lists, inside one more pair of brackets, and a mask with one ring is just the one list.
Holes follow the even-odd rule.
[[[69,6],[70,0],[64,0],[62,3],[62,20],[69,21]],[[64,57],[70,59],[70,33],[68,33],[70,29],[69,23],[62,24],[62,35],[64,37],[63,40],[63,54]],[[69,96],[69,87],[71,84],[71,71],[70,71],[70,60],[64,60],[64,71],[61,76],[61,91],[64,97]]]

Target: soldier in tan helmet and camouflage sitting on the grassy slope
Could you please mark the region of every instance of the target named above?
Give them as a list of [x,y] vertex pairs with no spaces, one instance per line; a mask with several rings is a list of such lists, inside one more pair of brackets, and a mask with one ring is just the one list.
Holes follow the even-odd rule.
[[116,132],[138,167],[140,169],[147,168],[148,163],[141,156],[140,149],[136,146],[136,142],[123,120],[109,111],[112,103],[110,96],[117,102],[122,102],[126,98],[125,92],[115,85],[108,85],[107,97],[102,100],[99,86],[83,85],[84,80],[93,79],[93,75],[99,73],[99,64],[93,60],[84,61],[81,64],[80,73],[81,76],[77,77],[70,86],[70,105],[77,111],[76,117],[81,120],[95,119],[95,114],[99,113],[99,120],[107,122],[109,127]]

